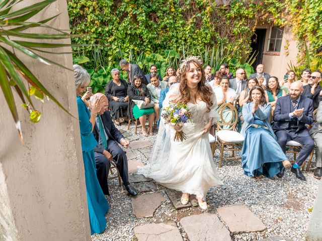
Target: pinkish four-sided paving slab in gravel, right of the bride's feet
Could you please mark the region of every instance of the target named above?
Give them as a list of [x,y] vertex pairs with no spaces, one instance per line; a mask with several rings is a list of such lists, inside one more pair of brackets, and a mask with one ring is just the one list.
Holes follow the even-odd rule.
[[266,226],[246,205],[219,207],[217,212],[233,233],[263,231]]

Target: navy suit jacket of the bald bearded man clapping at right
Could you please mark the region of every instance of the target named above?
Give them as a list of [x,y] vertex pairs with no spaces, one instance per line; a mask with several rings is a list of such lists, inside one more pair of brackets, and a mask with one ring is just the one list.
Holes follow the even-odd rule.
[[[305,127],[306,125],[311,125],[314,121],[313,119],[313,103],[312,100],[300,96],[300,101],[298,103],[298,109],[304,108],[303,116],[300,121],[297,119],[298,129],[296,133],[299,137],[309,136],[308,130]],[[289,118],[289,113],[291,112],[291,100],[290,96],[282,96],[277,99],[275,111],[274,111],[274,127],[273,130],[275,132],[280,130],[288,130],[289,122],[291,121]]]

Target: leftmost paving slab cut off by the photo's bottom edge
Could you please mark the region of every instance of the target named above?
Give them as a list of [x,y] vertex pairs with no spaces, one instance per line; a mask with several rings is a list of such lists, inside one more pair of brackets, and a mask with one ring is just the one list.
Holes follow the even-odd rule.
[[134,228],[138,241],[182,241],[179,229],[164,223],[150,223]]

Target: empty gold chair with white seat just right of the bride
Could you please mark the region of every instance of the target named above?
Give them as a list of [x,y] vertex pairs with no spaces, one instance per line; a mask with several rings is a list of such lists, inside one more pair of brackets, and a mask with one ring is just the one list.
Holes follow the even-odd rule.
[[[229,110],[227,110],[227,108]],[[225,120],[223,118],[222,113],[224,110],[231,111],[231,118],[229,120]],[[238,112],[232,104],[230,103],[222,104],[218,108],[218,113],[220,116],[220,120],[217,122],[217,133],[216,133],[217,140],[216,140],[215,148],[218,147],[220,150],[220,159],[219,159],[218,167],[221,167],[224,151],[231,151],[231,154],[232,154],[231,157],[226,157],[225,159],[240,159],[240,157],[235,157],[235,151],[240,151],[241,147],[243,147],[244,137],[241,136],[240,133],[235,131],[235,128],[238,122]],[[225,148],[225,146],[228,146],[228,145],[231,146],[231,148]]]

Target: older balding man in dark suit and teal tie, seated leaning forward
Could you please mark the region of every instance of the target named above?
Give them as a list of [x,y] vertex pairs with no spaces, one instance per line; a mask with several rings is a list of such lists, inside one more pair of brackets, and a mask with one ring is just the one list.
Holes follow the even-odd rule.
[[[90,100],[94,99],[95,96],[100,97],[103,96],[103,94],[96,93]],[[129,183],[127,157],[119,146],[119,144],[121,144],[123,147],[127,148],[130,142],[126,140],[121,132],[114,126],[111,119],[111,113],[107,110],[108,106],[109,101],[105,96],[99,111],[97,112],[93,131],[94,137],[98,142],[98,145],[94,148],[97,178],[104,194],[109,195],[107,178],[111,166],[110,162],[114,160],[122,178],[123,187],[128,194],[135,196],[137,195],[137,191]]]

